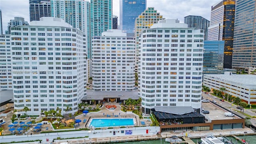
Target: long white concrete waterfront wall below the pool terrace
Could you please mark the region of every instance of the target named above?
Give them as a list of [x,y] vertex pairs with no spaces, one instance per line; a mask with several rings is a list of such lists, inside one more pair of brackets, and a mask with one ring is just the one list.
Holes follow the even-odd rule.
[[[124,130],[124,133],[121,131]],[[0,136],[0,142],[20,142],[26,140],[42,140],[46,142],[46,138],[49,141],[52,141],[54,138],[78,138],[89,136],[89,138],[100,138],[100,137],[113,137],[113,136],[128,136],[125,134],[125,130],[132,130],[131,135],[151,135],[155,132],[160,131],[159,126],[148,126],[148,127],[134,127],[134,128],[119,128],[119,129],[107,129],[107,130],[87,130],[87,131],[74,131],[74,132],[54,132],[54,133],[46,133],[46,134],[28,134],[22,136],[16,135],[8,135],[8,136]],[[146,130],[148,130],[148,134],[146,134]],[[115,131],[115,135],[113,134]],[[7,134],[7,133],[6,133]],[[9,132],[8,132],[9,134]]]

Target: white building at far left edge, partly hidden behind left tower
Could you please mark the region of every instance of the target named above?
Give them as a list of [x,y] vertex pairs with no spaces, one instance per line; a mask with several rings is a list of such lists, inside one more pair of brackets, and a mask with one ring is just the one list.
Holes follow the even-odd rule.
[[10,34],[0,35],[0,90],[12,90]]

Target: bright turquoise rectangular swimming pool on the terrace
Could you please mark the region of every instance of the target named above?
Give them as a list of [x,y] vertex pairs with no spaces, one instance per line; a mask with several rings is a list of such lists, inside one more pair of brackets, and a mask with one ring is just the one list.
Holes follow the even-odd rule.
[[89,126],[100,128],[100,127],[131,126],[131,125],[134,125],[133,118],[102,118],[102,119],[92,118]]

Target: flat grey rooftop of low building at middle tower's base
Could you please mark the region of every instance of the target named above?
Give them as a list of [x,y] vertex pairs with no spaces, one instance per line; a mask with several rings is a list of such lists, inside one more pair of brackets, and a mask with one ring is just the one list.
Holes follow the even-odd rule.
[[132,98],[133,100],[138,100],[138,90],[131,92],[95,92],[91,89],[87,90],[87,96],[84,96],[82,100],[103,100],[103,98],[117,98],[120,97],[120,100],[127,100]]

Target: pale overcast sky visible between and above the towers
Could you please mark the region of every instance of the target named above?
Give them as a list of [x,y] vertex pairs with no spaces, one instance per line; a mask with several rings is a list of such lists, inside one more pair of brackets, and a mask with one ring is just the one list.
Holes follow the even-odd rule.
[[[113,0],[113,15],[119,18],[119,1]],[[212,5],[220,0],[147,0],[147,7],[154,7],[164,18],[178,18],[184,22],[188,15],[202,16],[210,20]],[[23,17],[29,22],[28,0],[0,0],[3,33],[14,17]]]

